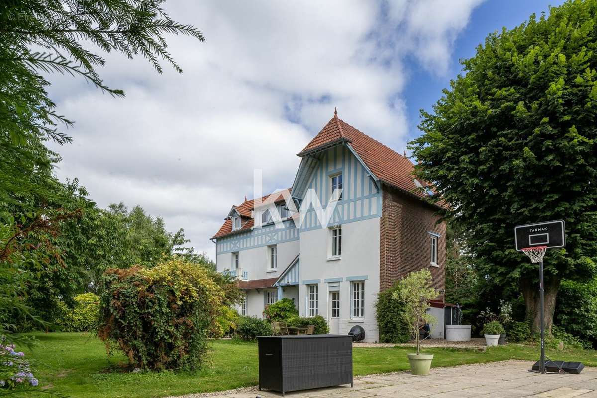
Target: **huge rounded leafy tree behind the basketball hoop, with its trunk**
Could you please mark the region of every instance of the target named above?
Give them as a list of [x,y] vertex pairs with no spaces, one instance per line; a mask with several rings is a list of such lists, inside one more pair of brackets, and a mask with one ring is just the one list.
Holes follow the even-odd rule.
[[514,249],[513,228],[566,221],[567,247],[547,252],[546,324],[560,280],[589,279],[597,260],[597,1],[567,1],[491,34],[464,74],[423,112],[411,142],[419,177],[450,203],[479,275],[518,283],[538,330],[538,268]]

